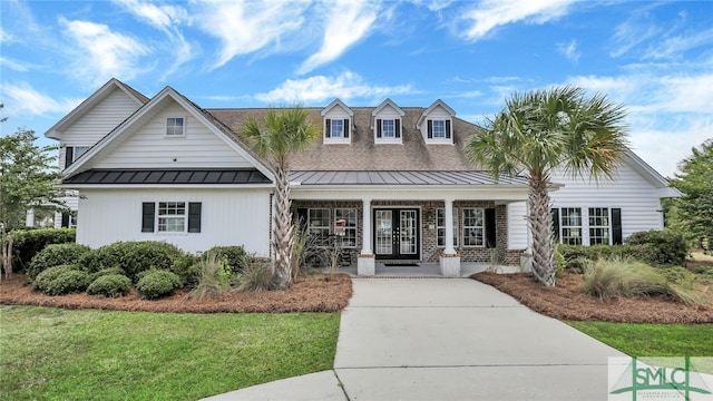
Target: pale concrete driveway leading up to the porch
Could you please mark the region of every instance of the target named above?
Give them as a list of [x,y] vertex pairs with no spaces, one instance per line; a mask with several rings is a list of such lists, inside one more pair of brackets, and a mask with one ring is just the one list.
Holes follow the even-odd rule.
[[209,400],[605,400],[623,354],[466,278],[354,278],[334,370]]

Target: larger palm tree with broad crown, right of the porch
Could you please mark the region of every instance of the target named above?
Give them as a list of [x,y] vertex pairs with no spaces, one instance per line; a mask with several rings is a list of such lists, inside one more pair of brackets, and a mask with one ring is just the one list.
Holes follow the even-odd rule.
[[605,96],[576,87],[514,94],[482,131],[472,133],[468,155],[496,177],[524,174],[527,222],[533,233],[533,273],[555,285],[549,186],[555,168],[573,176],[611,177],[626,149],[626,111]]

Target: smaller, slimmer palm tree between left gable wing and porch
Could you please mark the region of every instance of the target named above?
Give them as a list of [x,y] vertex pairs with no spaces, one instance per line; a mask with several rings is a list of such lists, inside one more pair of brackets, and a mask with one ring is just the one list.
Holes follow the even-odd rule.
[[251,138],[255,151],[265,157],[275,175],[273,196],[272,246],[275,255],[276,286],[286,288],[292,283],[292,232],[294,224],[290,207],[290,155],[304,149],[319,135],[309,113],[300,106],[270,109],[262,124],[251,117],[243,126],[243,135]]

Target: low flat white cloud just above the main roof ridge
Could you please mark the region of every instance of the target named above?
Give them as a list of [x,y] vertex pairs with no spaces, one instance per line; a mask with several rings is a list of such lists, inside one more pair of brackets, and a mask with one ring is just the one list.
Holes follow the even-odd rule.
[[370,98],[412,94],[411,85],[394,87],[371,86],[354,72],[346,71],[336,77],[315,76],[301,80],[287,79],[280,87],[266,92],[257,94],[257,100],[268,104],[280,102],[319,102],[333,98]]

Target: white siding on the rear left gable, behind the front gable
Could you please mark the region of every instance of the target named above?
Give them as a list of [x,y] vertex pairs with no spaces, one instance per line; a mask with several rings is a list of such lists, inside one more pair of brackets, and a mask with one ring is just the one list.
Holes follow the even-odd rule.
[[[91,146],[104,138],[140,106],[126,92],[116,88],[101,102],[90,108],[75,124],[62,131],[62,146]],[[60,151],[65,159],[64,149]]]

